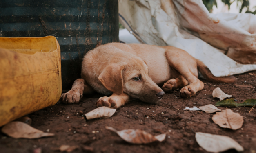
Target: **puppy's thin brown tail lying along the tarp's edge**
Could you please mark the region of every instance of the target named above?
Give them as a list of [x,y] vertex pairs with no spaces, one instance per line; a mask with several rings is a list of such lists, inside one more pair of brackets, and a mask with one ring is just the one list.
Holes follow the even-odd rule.
[[211,81],[211,82],[216,82],[216,83],[232,83],[236,81],[236,78],[234,76],[229,76],[229,77],[215,77],[209,68],[205,66],[205,64],[196,59],[197,63],[197,69],[201,72],[201,74],[206,78],[206,80]]

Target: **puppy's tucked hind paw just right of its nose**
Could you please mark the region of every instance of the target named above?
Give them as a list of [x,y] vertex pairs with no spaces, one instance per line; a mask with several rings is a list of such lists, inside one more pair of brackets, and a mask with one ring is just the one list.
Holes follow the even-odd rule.
[[167,92],[173,92],[176,89],[179,89],[181,87],[185,87],[187,85],[187,80],[182,76],[178,76],[175,79],[168,80],[162,87],[163,91],[165,93]]

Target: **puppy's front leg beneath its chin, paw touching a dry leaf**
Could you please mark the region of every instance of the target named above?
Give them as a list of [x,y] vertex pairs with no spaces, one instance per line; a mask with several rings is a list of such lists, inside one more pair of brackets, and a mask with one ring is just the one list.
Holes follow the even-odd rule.
[[124,92],[120,95],[112,94],[110,97],[100,97],[96,102],[98,107],[106,106],[109,108],[119,108],[122,105],[125,105],[129,101],[129,96]]

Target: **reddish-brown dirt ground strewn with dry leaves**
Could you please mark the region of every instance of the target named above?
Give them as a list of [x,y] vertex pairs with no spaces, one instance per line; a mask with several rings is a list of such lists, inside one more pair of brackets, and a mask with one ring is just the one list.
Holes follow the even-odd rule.
[[[256,73],[253,71],[251,73]],[[56,105],[36,111],[28,116],[32,127],[55,133],[56,136],[39,139],[13,139],[0,133],[1,153],[33,153],[40,147],[42,153],[55,153],[53,147],[62,144],[78,145],[73,153],[206,153],[195,140],[195,132],[204,132],[229,136],[245,149],[244,153],[256,153],[256,108],[230,107],[233,112],[243,116],[243,129],[231,130],[216,125],[203,111],[184,111],[185,107],[215,104],[218,99],[212,97],[212,91],[220,87],[226,94],[233,95],[237,102],[256,98],[256,75],[248,73],[236,75],[236,83],[205,83],[203,90],[187,99],[180,98],[179,91],[165,94],[156,104],[132,101],[119,108],[111,118],[85,120],[83,114],[96,108],[94,104],[101,95],[86,96],[78,104]],[[234,84],[252,85],[252,88],[235,87]],[[147,109],[149,108],[149,109]],[[226,109],[225,107],[218,107]],[[163,113],[162,113],[163,112]],[[105,126],[117,130],[141,129],[152,135],[168,132],[163,142],[134,145],[122,140],[116,133]],[[171,130],[171,132],[169,132]],[[226,153],[236,152],[235,150]]]

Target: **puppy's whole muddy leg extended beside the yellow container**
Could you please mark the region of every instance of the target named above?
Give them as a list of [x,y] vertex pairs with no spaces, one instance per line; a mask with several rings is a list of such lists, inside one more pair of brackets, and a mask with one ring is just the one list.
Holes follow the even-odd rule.
[[60,97],[60,101],[65,104],[78,103],[82,98],[82,94],[92,94],[93,89],[85,82],[84,79],[76,79],[72,85],[72,89],[64,93]]

